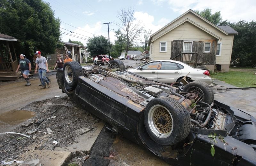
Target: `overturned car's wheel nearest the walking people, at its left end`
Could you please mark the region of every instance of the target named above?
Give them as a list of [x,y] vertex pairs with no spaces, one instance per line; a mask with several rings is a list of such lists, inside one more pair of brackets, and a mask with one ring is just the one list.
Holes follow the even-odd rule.
[[67,62],[64,64],[63,74],[65,83],[68,86],[75,88],[78,82],[78,77],[83,75],[83,68],[76,61]]

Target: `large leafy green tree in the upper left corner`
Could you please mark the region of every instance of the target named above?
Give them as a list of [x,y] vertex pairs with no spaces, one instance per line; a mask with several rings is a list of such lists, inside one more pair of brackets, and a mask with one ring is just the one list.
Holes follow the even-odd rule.
[[0,33],[20,41],[17,52],[31,56],[55,52],[60,43],[60,20],[42,0],[1,0]]

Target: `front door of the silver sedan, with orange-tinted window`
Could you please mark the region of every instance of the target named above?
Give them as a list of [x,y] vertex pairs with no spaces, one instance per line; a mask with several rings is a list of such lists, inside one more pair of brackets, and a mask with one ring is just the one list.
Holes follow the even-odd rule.
[[150,62],[141,67],[138,67],[134,73],[137,75],[141,75],[150,80],[157,81],[157,69],[160,62]]

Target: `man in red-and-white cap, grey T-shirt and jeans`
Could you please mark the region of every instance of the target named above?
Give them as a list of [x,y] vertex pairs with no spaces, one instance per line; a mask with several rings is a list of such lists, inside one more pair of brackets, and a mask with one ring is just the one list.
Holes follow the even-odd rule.
[[42,83],[42,87],[40,89],[45,89],[45,82],[47,83],[48,88],[50,88],[51,83],[48,81],[48,79],[46,78],[46,72],[49,72],[48,69],[48,63],[46,58],[41,56],[41,52],[40,51],[36,51],[36,70],[35,73],[37,73],[37,69],[38,69],[38,74],[39,77],[41,79],[41,83]]

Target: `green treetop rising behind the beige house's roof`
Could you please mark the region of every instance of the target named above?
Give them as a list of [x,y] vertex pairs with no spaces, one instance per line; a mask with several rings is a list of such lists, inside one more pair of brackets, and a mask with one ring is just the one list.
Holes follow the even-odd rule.
[[212,9],[206,8],[203,11],[195,10],[195,12],[215,25],[219,25],[222,20],[222,17],[220,16],[220,11],[212,14]]

